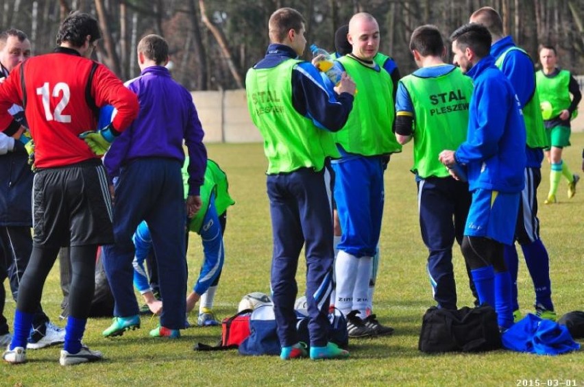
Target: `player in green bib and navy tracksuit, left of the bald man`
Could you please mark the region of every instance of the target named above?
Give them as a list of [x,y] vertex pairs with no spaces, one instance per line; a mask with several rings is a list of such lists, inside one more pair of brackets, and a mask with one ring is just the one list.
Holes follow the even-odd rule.
[[273,232],[271,288],[280,358],[308,355],[298,341],[295,274],[306,251],[306,302],[312,359],[346,358],[328,342],[332,288],[332,208],[324,178],[328,158],[338,156],[329,131],[341,129],[352,109],[355,84],[343,73],[330,93],[311,63],[297,59],[306,46],[304,17],[280,8],[269,18],[265,58],[247,71],[247,105],[264,138],[267,194]]

